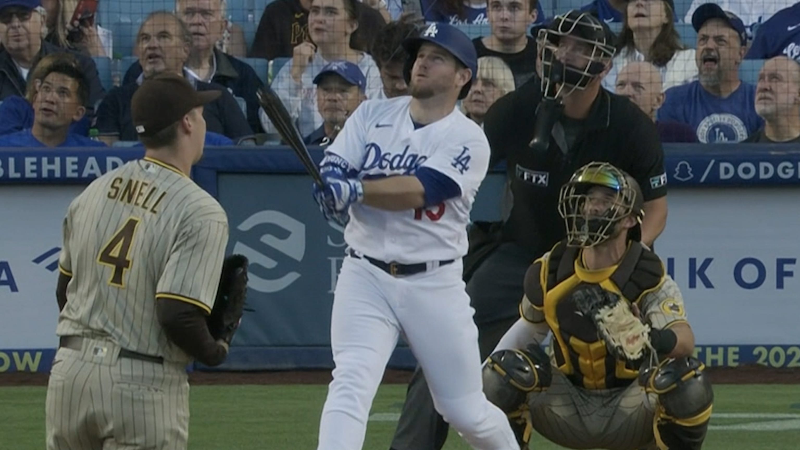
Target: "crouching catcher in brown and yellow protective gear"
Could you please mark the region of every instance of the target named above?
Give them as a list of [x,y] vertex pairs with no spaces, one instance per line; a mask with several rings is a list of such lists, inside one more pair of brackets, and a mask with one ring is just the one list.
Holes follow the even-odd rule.
[[536,430],[566,448],[698,450],[714,393],[678,285],[639,242],[641,188],[589,163],[558,212],[567,237],[530,266],[522,317],[486,360],[486,396],[523,448]]

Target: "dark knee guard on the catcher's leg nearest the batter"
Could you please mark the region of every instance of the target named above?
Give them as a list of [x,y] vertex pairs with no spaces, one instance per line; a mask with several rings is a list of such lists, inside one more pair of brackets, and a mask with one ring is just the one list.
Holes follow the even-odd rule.
[[526,403],[529,392],[549,387],[552,378],[550,359],[538,345],[528,350],[501,350],[486,360],[483,392],[490,402],[510,414]]

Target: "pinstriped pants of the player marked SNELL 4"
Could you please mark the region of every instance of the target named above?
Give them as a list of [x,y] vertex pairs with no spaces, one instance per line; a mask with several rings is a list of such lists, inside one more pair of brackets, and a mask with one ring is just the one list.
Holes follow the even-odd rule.
[[185,366],[118,358],[118,346],[87,340],[59,348],[46,401],[47,450],[185,450]]

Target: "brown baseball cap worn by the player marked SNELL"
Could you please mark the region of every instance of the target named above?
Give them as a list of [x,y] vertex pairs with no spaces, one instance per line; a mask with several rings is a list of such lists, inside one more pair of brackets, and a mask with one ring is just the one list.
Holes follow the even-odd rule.
[[138,135],[152,136],[221,94],[219,90],[198,92],[178,74],[158,74],[142,82],[134,93],[131,119]]

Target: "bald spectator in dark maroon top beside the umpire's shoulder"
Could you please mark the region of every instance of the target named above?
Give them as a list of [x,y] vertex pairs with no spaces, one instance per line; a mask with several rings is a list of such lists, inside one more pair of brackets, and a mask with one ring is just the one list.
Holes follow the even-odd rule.
[[655,119],[656,111],[664,102],[664,93],[661,74],[650,62],[630,62],[623,67],[617,77],[616,93],[636,103],[636,106],[655,122],[662,143],[698,142],[694,128],[686,123]]

